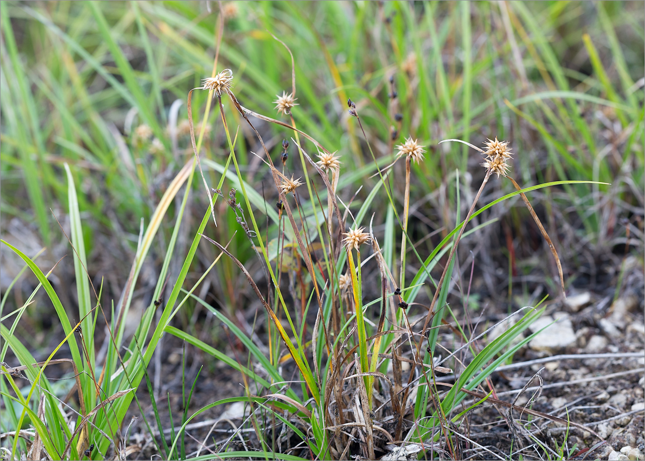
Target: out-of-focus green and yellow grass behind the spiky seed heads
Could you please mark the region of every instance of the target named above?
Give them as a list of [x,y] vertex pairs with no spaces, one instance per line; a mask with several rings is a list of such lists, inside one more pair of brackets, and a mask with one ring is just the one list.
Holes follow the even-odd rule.
[[[348,203],[362,187],[352,209],[378,178],[369,177],[375,169],[346,99],[359,107],[382,166],[393,160],[394,145],[418,138],[428,154],[413,166],[410,232],[422,257],[454,225],[455,171],[466,194],[462,208],[470,203],[471,183],[484,174],[479,154],[456,143],[439,146],[441,139],[477,145],[495,136],[510,141],[516,153],[511,175],[522,187],[560,179],[611,183],[530,194],[561,252],[568,286],[611,289],[627,227],[628,251],[642,259],[643,6],[642,1],[229,2],[222,5],[218,70],[232,69],[235,94],[245,107],[277,118],[272,101],[290,92],[291,61],[271,34],[288,45],[295,59],[295,120],[341,156],[342,200]],[[8,1],[0,7],[3,238],[23,245],[29,256],[47,246],[37,260],[46,270],[70,254],[50,212],[65,229],[63,163],[68,163],[79,185],[88,270],[95,285],[106,280],[103,302],[110,305],[123,290],[140,220],[148,222],[169,181],[192,158],[186,96],[212,72],[219,5]],[[194,93],[195,124],[205,98],[206,92]],[[243,174],[272,203],[277,194],[268,170],[250,153],[261,149],[239,114],[225,108],[233,131],[239,125]],[[214,163],[228,154],[218,118],[211,112],[203,147]],[[282,140],[292,132],[257,127],[277,161]],[[290,149],[286,168],[297,177],[301,166],[295,147]],[[211,185],[221,175],[208,167],[214,163],[205,163]],[[207,203],[200,182],[186,208],[192,228]],[[225,182],[223,190],[230,187]],[[403,187],[402,179],[393,183],[401,207]],[[482,202],[511,189],[492,181]],[[234,214],[225,203],[218,206],[219,227],[209,225],[209,232],[218,241],[233,238],[229,250],[259,272],[246,236],[233,236],[239,230]],[[384,207],[372,208],[374,222],[383,223]],[[168,216],[173,213],[171,207]],[[548,248],[522,203],[491,210],[482,221],[491,217],[501,220],[462,245],[462,260],[469,249],[477,254],[475,307],[477,299],[492,299],[511,309],[538,289],[557,294],[555,271],[544,262],[551,261]],[[135,294],[142,305],[150,302],[144,298],[152,293],[171,231],[171,222],[162,227],[142,271]],[[184,251],[192,231],[182,230],[177,252]],[[208,265],[214,250],[200,248],[199,261]],[[20,267],[5,247],[2,256],[4,292]],[[71,286],[71,267],[70,258],[63,260],[54,272],[55,285]],[[201,273],[194,269],[193,282]],[[178,271],[171,267],[171,274]],[[209,296],[234,316],[246,305],[240,294],[248,284],[227,259],[213,273],[200,297]],[[520,293],[515,300],[513,286],[513,293]],[[73,293],[65,305],[74,305]],[[17,333],[37,333],[43,341],[55,334],[48,309],[36,305]],[[195,325],[198,314],[199,309],[183,310],[176,322],[199,335],[207,327]]]

